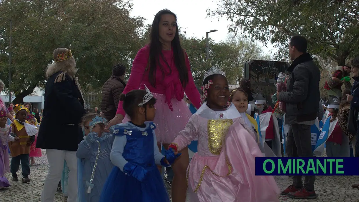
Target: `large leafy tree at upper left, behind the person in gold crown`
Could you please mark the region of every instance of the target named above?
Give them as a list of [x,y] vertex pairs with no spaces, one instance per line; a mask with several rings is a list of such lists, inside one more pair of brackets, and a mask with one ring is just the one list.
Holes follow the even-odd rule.
[[[128,0],[0,1],[1,17],[13,19],[14,102],[23,102],[36,86],[44,87],[46,66],[53,62],[52,51],[57,47],[71,48],[84,87],[102,86],[116,62],[130,64],[141,46],[144,20],[130,17],[131,6]],[[1,28],[7,27],[6,22],[0,23]],[[0,34],[0,38],[9,36],[4,28]],[[0,42],[4,83],[8,83],[9,66],[3,60],[7,56],[8,42]]]

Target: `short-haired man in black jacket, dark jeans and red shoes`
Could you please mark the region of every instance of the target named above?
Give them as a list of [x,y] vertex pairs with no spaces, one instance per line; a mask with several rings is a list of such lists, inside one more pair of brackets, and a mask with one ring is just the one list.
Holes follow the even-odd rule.
[[[289,43],[289,56],[293,60],[288,67],[287,91],[277,92],[280,101],[286,103],[285,124],[289,125],[286,153],[289,157],[312,157],[311,126],[314,124],[320,100],[320,71],[307,53],[307,40],[293,36]],[[290,198],[316,198],[315,176],[294,176],[293,184],[281,194]]]

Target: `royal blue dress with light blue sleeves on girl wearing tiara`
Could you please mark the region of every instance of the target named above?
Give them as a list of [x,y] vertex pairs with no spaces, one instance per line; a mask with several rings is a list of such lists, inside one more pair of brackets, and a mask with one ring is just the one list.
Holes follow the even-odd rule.
[[[113,141],[110,158],[115,167],[103,186],[99,202],[170,202],[156,164],[164,157],[158,149],[153,122],[138,127],[127,122],[111,128]],[[140,182],[128,172],[142,167],[147,177]],[[127,165],[126,165],[127,164]],[[142,169],[141,168],[141,169]]]

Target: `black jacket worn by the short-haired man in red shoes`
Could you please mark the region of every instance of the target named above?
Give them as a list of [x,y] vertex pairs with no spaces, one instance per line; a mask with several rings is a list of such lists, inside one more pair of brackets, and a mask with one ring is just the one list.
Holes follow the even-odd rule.
[[316,119],[320,100],[320,71],[309,53],[297,57],[288,67],[287,91],[279,93],[286,103],[285,124]]

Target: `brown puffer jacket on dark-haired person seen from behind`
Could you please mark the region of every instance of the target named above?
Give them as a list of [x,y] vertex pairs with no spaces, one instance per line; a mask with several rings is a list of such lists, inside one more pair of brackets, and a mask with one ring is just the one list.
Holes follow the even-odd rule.
[[108,121],[115,117],[120,95],[125,87],[125,82],[114,75],[103,84],[101,111]]

